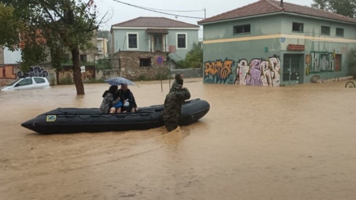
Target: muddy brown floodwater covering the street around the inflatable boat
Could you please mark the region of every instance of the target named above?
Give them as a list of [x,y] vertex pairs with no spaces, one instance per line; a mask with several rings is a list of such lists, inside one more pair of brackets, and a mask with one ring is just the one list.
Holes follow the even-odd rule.
[[[138,106],[169,85],[138,82]],[[107,84],[0,92],[1,200],[355,200],[356,89],[203,84],[199,122],[167,133],[40,135],[20,126],[57,107],[98,107]]]

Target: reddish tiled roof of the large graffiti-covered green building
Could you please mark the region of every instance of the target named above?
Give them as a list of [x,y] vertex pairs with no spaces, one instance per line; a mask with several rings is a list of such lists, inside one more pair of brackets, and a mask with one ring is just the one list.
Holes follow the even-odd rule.
[[356,23],[356,19],[339,15],[336,13],[328,12],[325,10],[304,6],[304,5],[297,5],[293,3],[284,2],[283,7],[281,7],[280,1],[275,1],[275,0],[259,0],[257,2],[245,5],[243,7],[239,7],[237,9],[224,12],[222,14],[207,19],[203,19],[198,23],[214,22],[214,21],[220,21],[225,19],[267,14],[272,12],[298,13],[298,14],[309,15],[313,17],[321,17],[321,18]]

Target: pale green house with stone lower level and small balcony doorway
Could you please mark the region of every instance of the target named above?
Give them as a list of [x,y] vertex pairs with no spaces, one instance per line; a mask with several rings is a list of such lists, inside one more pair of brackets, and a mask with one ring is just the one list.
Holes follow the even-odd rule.
[[173,62],[185,59],[193,43],[199,42],[198,31],[198,25],[165,17],[137,17],[114,24],[112,67],[120,68],[121,76],[131,79],[154,78],[158,70],[155,58],[162,56],[162,65],[167,65],[168,56]]

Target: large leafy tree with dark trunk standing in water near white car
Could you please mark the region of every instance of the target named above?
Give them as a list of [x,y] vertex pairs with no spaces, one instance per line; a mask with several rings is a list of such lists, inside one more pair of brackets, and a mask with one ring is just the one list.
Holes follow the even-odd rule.
[[[50,56],[52,67],[61,71],[64,53],[70,51],[77,94],[84,94],[80,50],[94,48],[91,40],[106,14],[97,20],[93,0],[0,0],[0,3],[13,9],[13,17],[26,27],[17,28],[21,36],[18,45],[22,49],[21,68],[26,71]],[[0,44],[12,40],[6,37],[4,41]]]

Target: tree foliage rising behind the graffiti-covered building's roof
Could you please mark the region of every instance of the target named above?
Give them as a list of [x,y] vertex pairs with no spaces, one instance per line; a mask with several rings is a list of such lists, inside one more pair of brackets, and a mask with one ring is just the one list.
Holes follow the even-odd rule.
[[312,7],[356,17],[356,0],[313,0]]

